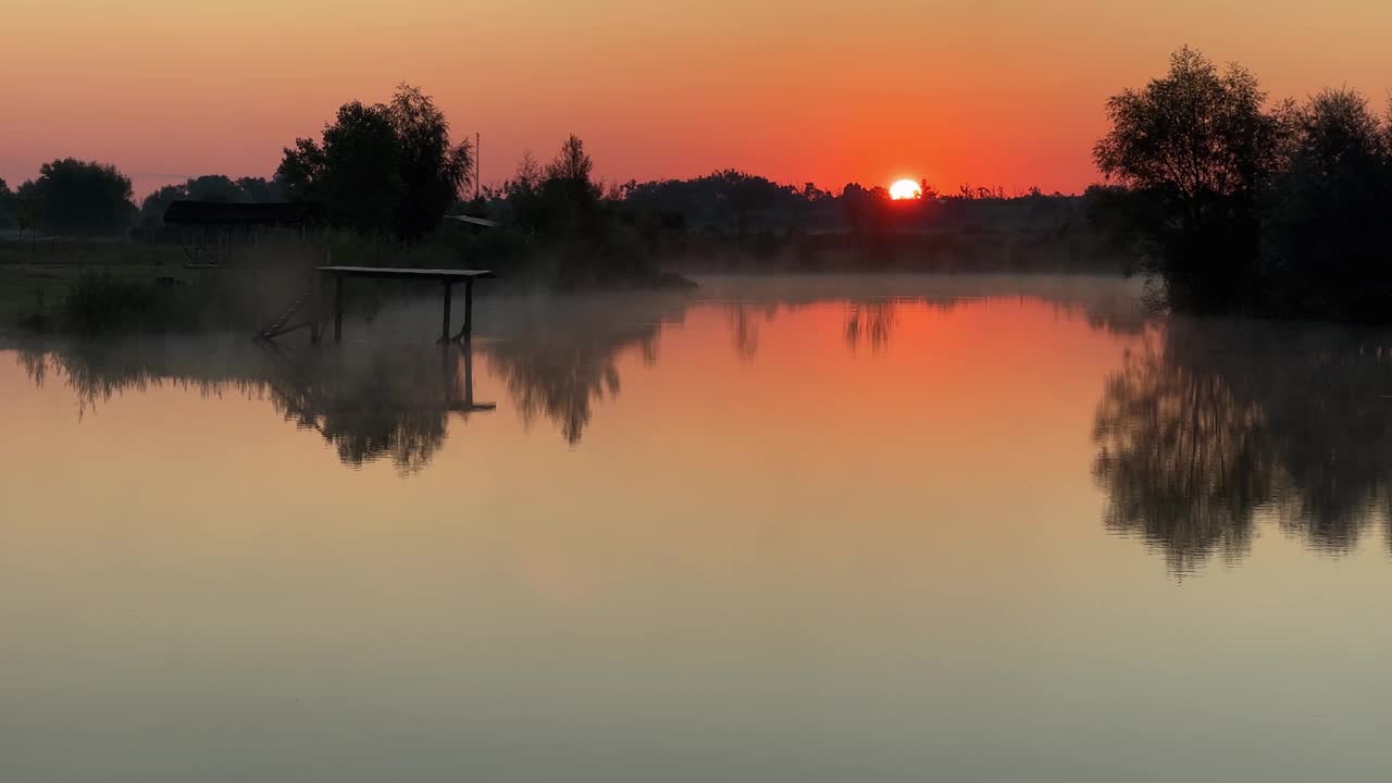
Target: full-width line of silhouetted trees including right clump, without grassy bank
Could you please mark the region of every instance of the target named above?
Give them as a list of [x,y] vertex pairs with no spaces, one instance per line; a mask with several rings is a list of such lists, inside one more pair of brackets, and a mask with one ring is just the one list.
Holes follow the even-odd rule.
[[[61,159],[15,191],[0,183],[0,226],[155,231],[180,198],[288,199],[322,203],[330,224],[354,235],[415,245],[434,241],[443,216],[464,210],[507,226],[489,240],[459,240],[468,251],[504,266],[550,266],[579,281],[651,274],[653,256],[670,245],[735,247],[757,258],[817,244],[789,241],[798,237],[842,234],[853,238],[856,263],[874,268],[866,259],[878,262],[896,248],[885,237],[959,228],[960,242],[919,244],[937,242],[928,251],[970,268],[981,254],[967,240],[990,244],[981,237],[991,233],[1023,237],[998,254],[1023,258],[1041,245],[1098,255],[1093,242],[1069,238],[1094,231],[1128,263],[1136,259],[1155,301],[1178,311],[1385,318],[1392,118],[1366,98],[1334,89],[1272,103],[1250,71],[1219,68],[1182,49],[1168,74],[1118,93],[1105,110],[1111,130],[1094,159],[1107,181],[1083,196],[967,185],[941,192],[923,183],[923,198],[906,203],[878,187],[848,183],[834,194],[739,170],[603,183],[572,135],[550,162],[529,153],[509,180],[466,199],[475,150],[451,139],[430,96],[401,85],[386,103],[345,103],[317,138],[287,146],[270,178],[196,177],[136,206],[129,178],[116,167]],[[725,244],[692,245],[688,234]]]

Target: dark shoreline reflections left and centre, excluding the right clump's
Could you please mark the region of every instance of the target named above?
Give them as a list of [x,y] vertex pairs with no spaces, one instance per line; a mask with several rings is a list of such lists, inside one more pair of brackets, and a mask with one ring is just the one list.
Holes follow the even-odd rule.
[[[621,393],[622,357],[656,364],[663,330],[682,323],[692,308],[722,311],[735,355],[753,362],[761,327],[809,308],[831,305],[839,312],[841,350],[880,354],[889,348],[902,313],[948,313],[1022,287],[1027,293],[1008,298],[1047,302],[1059,313],[1086,318],[1094,329],[1129,333],[1143,323],[1134,298],[1109,280],[736,279],[713,281],[695,298],[617,294],[489,302],[479,340],[465,350],[393,341],[316,348],[294,340],[258,348],[241,339],[189,339],[31,347],[19,351],[19,361],[38,385],[61,378],[77,394],[81,415],[116,394],[166,383],[205,396],[266,397],[287,421],[317,432],[345,465],[390,460],[412,474],[441,449],[452,422],[462,426],[469,415],[493,410],[473,398],[476,359],[523,422],[546,422],[574,446],[597,408]],[[433,318],[429,309],[423,315]],[[420,332],[413,325],[405,330]]]

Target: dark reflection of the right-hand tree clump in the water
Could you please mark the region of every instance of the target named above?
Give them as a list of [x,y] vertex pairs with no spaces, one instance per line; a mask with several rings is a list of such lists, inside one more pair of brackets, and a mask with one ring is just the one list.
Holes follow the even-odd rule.
[[1107,527],[1178,573],[1242,557],[1261,518],[1329,553],[1388,531],[1386,346],[1336,327],[1185,319],[1147,334],[1097,407]]

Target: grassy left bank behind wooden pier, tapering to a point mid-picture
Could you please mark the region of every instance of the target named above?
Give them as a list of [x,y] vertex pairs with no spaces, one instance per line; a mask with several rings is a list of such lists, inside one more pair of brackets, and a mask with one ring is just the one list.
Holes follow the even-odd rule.
[[[316,280],[323,263],[406,269],[487,268],[498,273],[484,294],[682,288],[689,280],[624,255],[590,258],[593,248],[539,249],[509,231],[444,233],[401,242],[324,231],[309,241],[235,248],[219,269],[188,266],[175,244],[58,241],[0,244],[0,330],[78,336],[255,332]],[[347,309],[373,313],[416,295],[419,284],[373,281],[347,290]]]

